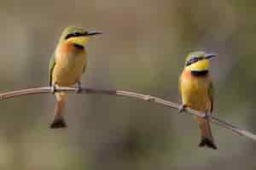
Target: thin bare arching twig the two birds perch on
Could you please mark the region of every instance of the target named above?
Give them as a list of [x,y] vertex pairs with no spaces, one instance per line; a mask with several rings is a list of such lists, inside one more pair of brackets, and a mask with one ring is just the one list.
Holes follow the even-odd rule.
[[[77,88],[64,88],[59,87],[55,88],[55,92],[78,92]],[[0,101],[3,101],[5,99],[11,99],[16,96],[21,95],[28,95],[28,94],[50,94],[52,93],[51,87],[42,87],[42,88],[27,88],[27,89],[21,89],[21,90],[15,90],[10,92],[5,92],[0,94]],[[129,91],[123,91],[123,90],[106,90],[106,89],[96,89],[96,88],[81,88],[80,94],[108,94],[108,95],[117,95],[117,96],[126,96],[131,98],[137,98],[137,99],[143,99],[149,102],[154,102],[160,105],[166,105],[167,107],[171,107],[173,109],[178,110],[180,108],[180,105],[177,103],[173,103],[171,101],[168,101],[166,99],[160,99],[151,95],[145,95],[145,94],[137,94],[134,92]],[[202,118],[206,118],[206,115],[204,113],[201,113],[200,111],[195,111],[189,108],[185,108],[184,113],[187,113],[189,115],[194,116],[201,116]],[[240,127],[236,127],[228,122],[224,122],[220,120],[216,116],[207,115],[207,118],[216,124],[218,124],[220,127],[224,127],[226,129],[231,130],[233,133],[239,134],[241,136],[247,137],[249,139],[253,139],[256,141],[256,135],[253,133],[248,132],[247,130],[241,129]]]

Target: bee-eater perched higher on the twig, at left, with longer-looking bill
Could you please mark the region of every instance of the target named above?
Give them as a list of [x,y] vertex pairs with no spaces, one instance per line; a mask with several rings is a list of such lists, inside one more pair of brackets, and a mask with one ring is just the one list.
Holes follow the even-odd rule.
[[55,52],[49,61],[49,85],[55,94],[55,117],[51,128],[67,127],[63,117],[63,109],[67,94],[56,92],[55,87],[71,87],[78,85],[81,89],[81,77],[86,68],[85,45],[90,36],[102,34],[101,31],[85,31],[84,28],[68,26],[61,34]]

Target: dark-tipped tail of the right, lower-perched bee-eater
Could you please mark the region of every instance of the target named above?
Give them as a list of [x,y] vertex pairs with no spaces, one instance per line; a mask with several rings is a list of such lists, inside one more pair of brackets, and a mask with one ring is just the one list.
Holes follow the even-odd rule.
[[197,117],[197,120],[200,123],[201,128],[201,142],[199,144],[200,147],[207,146],[212,148],[213,150],[217,150],[216,144],[214,144],[212,131],[210,127],[210,122],[204,118]]

